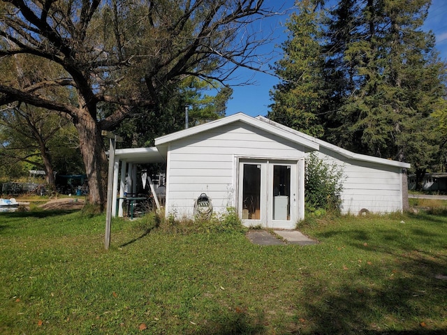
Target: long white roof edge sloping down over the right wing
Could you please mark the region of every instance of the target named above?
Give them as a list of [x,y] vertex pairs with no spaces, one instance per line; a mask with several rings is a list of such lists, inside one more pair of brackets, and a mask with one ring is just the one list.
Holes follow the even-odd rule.
[[295,131],[295,129],[289,128],[287,126],[284,126],[282,124],[279,124],[275,121],[272,121],[270,119],[267,119],[266,117],[261,117],[258,116],[256,117],[256,119],[265,122],[266,124],[270,124],[271,126],[277,127],[279,129],[282,129],[284,131],[287,131],[288,133],[292,133],[295,135],[300,135],[301,137],[307,138],[309,140],[313,140],[316,143],[318,143],[318,145],[320,147],[323,147],[325,149],[329,149],[331,151],[336,152],[337,154],[340,154],[346,158],[349,159],[353,159],[355,161],[366,161],[366,162],[370,162],[370,163],[378,163],[378,164],[383,164],[383,165],[390,165],[390,166],[396,166],[398,168],[410,168],[411,165],[409,163],[404,163],[404,162],[398,162],[398,161],[392,161],[390,159],[385,159],[385,158],[379,158],[379,157],[374,157],[374,156],[367,156],[367,155],[362,155],[362,154],[356,154],[352,151],[346,150],[346,149],[342,149],[340,147],[337,147],[334,144],[330,144],[328,142],[324,142],[323,140],[318,140],[318,138],[316,137],[312,137],[309,136],[305,133],[301,133],[300,131]]

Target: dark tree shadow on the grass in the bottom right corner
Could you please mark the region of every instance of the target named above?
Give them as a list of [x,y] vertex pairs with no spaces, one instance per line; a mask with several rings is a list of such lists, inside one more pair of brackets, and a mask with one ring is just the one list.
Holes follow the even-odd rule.
[[447,334],[447,257],[397,250],[373,248],[393,260],[349,269],[337,287],[328,279],[307,288],[312,329],[301,334]]

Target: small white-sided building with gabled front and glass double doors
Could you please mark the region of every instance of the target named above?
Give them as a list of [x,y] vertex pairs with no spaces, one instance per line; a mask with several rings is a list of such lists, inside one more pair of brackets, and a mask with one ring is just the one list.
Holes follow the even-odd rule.
[[295,228],[305,216],[305,159],[311,152],[342,169],[343,213],[402,211],[402,170],[410,167],[242,113],[156,138],[155,146],[116,151],[112,214],[126,178],[135,179],[141,163],[166,163],[167,216],[191,218],[198,199],[207,199],[214,213],[235,208],[244,225],[280,229]]

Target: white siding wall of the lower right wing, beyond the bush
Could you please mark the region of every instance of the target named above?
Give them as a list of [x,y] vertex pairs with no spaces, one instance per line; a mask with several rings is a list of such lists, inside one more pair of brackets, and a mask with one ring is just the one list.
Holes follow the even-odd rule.
[[373,213],[402,211],[400,168],[351,160],[323,147],[320,147],[318,156],[330,164],[337,164],[344,172],[344,214],[358,214],[360,209]]

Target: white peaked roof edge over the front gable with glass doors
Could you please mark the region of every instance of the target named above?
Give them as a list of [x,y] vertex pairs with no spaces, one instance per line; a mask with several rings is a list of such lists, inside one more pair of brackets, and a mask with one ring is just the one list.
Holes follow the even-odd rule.
[[[249,124],[250,126],[254,126],[255,128],[262,129],[268,133],[272,133],[272,135],[277,135],[279,137],[283,137],[286,140],[290,140],[291,142],[295,142],[297,144],[301,144],[306,147],[307,151],[318,150],[319,145],[315,141],[314,137],[310,136],[302,136],[302,133],[291,133],[290,131],[284,130],[272,124],[268,124],[261,119],[256,119],[254,117],[249,117],[244,113],[237,113],[230,115],[229,117],[224,117],[222,119],[217,119],[215,121],[208,122],[207,124],[200,124],[199,126],[194,126],[191,128],[184,129],[183,131],[177,131],[176,133],[171,133],[168,135],[164,135],[155,139],[156,147],[164,147],[168,145],[168,143],[181,140],[182,138],[196,135],[198,133],[202,133],[204,131],[210,131],[215,128],[219,128],[221,126],[226,126],[227,124],[232,124],[234,122],[241,121],[244,124]],[[159,148],[160,149],[160,148]]]

